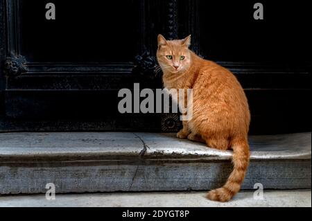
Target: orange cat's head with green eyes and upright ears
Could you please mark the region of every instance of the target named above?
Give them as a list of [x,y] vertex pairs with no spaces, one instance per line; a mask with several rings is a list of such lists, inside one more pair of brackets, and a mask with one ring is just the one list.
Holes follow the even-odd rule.
[[157,60],[163,71],[180,73],[191,66],[191,35],[185,39],[167,41],[158,35]]

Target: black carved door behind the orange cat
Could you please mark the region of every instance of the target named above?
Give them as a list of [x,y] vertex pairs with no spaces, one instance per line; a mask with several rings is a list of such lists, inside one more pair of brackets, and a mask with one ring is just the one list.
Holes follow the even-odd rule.
[[[46,4],[55,4],[47,20]],[[231,69],[251,132],[309,131],[307,1],[0,0],[0,130],[173,132],[174,114],[119,114],[119,89],[161,88],[157,34],[192,35],[192,49]]]

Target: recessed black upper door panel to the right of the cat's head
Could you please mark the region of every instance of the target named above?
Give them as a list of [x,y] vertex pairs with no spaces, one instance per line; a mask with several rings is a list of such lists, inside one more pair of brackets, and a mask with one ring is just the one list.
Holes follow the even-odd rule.
[[308,1],[261,3],[264,20],[255,20],[254,1],[200,0],[200,53],[225,62],[311,61]]

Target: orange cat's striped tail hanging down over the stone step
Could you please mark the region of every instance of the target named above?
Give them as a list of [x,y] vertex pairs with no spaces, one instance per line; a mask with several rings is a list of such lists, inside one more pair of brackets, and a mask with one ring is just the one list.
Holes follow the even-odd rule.
[[233,171],[225,185],[213,191],[209,191],[209,200],[227,202],[232,199],[241,189],[241,184],[245,178],[245,173],[249,165],[250,150],[247,139],[236,139],[232,145],[233,149]]

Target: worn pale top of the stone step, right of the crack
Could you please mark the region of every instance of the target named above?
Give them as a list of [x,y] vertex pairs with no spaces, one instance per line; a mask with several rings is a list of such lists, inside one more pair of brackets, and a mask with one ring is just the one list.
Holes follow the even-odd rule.
[[[148,145],[147,154],[176,154],[230,159],[232,151],[207,148],[203,143],[176,139],[175,134],[139,136]],[[250,136],[250,159],[311,159],[311,133]]]

